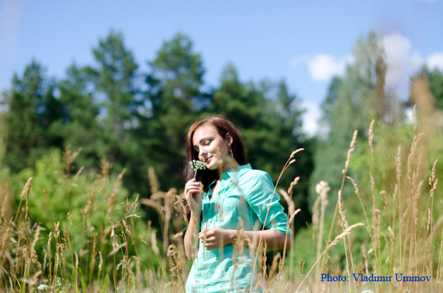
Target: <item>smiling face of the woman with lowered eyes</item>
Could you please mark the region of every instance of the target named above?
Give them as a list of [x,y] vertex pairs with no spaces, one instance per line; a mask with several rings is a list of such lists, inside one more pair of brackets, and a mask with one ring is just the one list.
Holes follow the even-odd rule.
[[[192,137],[192,147],[199,154],[199,160],[204,162],[206,168],[215,170],[219,167],[218,161],[223,160],[229,153],[232,138],[228,136],[228,142],[219,135],[212,124],[200,126]],[[217,149],[221,153],[217,153]]]

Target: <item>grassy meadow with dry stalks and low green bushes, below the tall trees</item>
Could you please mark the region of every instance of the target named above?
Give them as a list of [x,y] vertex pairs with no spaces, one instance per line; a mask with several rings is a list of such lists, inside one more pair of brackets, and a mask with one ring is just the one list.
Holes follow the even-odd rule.
[[[266,265],[266,244],[239,237],[239,252],[247,245],[257,258],[260,283],[251,284],[250,292],[443,292],[438,160],[427,158],[432,152],[421,143],[430,138],[413,123],[412,140],[386,148],[377,139],[376,123],[370,124],[365,145],[356,144],[354,132],[338,200],[331,198],[327,182],[318,182],[312,221],[292,233],[290,249]],[[370,156],[368,178],[348,176],[358,148]],[[191,263],[183,249],[188,219],[178,217],[183,194],[159,190],[150,168],[150,197],[129,199],[122,188],[125,170],[110,176],[107,160],[100,173],[80,168],[71,174],[80,151],[53,152],[37,162],[35,173],[2,177],[0,291],[184,292]],[[297,164],[298,153],[289,155],[284,169]],[[379,184],[377,164],[394,170],[390,185]],[[298,180],[276,187],[287,201],[291,229],[299,211],[291,200]],[[345,185],[353,194],[343,200]],[[141,205],[158,214],[159,229],[143,220]],[[333,214],[327,214],[327,205]],[[348,209],[359,216],[348,217]]]

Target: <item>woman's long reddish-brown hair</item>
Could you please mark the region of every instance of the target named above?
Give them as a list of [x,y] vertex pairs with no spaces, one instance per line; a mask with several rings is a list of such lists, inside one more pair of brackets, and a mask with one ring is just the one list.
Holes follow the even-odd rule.
[[[195,149],[192,146],[192,138],[194,137],[195,131],[200,126],[206,124],[215,126],[221,138],[223,138],[226,142],[228,141],[226,135],[229,133],[230,137],[233,138],[233,143],[230,145],[230,149],[232,149],[233,151],[233,158],[240,165],[244,165],[247,163],[242,134],[240,134],[240,132],[238,131],[237,127],[235,127],[233,122],[230,122],[228,119],[226,119],[226,117],[223,117],[221,115],[213,115],[204,118],[202,120],[197,119],[190,126],[188,134],[186,135],[186,159],[183,166],[183,173],[184,173],[183,175],[186,178],[186,182],[194,178],[195,174],[195,171],[192,170],[189,162],[192,160],[199,160],[199,153],[195,151]],[[218,178],[217,170],[209,170],[209,169],[197,171],[197,176],[195,177],[197,181],[203,184],[205,191],[208,189],[208,185],[210,185],[210,182],[213,182],[213,180],[217,178]],[[186,209],[189,218],[190,209],[188,205],[186,205]]]

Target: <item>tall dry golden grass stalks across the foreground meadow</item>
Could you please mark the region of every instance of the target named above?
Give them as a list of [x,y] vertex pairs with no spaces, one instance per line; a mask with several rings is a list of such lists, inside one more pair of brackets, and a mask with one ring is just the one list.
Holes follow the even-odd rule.
[[[421,93],[423,94],[423,93]],[[296,259],[296,249],[283,249],[277,254],[272,265],[266,265],[267,244],[260,238],[247,239],[242,234],[235,244],[235,252],[242,254],[249,247],[255,257],[255,272],[260,282],[250,285],[250,292],[443,292],[443,216],[441,198],[436,198],[438,187],[437,160],[433,163],[428,178],[426,155],[421,148],[422,140],[428,139],[413,124],[413,140],[408,146],[398,147],[395,161],[395,189],[390,191],[377,187],[374,178],[377,165],[374,164],[374,122],[370,124],[368,147],[371,153],[371,167],[368,170],[370,187],[359,187],[359,182],[348,176],[352,155],[356,148],[358,133],[354,133],[343,164],[341,190],[335,203],[332,218],[326,218],[329,205],[329,186],[319,182],[316,187],[318,199],[314,204],[310,231],[312,243],[310,260]],[[69,149],[64,153],[66,173],[61,180],[75,183],[83,176],[80,169],[75,176],[69,171],[75,156]],[[292,153],[285,169],[295,162],[296,152]],[[284,170],[283,170],[284,171]],[[183,234],[190,220],[178,220],[181,214],[184,195],[177,189],[161,191],[154,169],[149,169],[152,194],[141,200],[125,199],[117,201],[123,184],[125,170],[109,187],[109,162],[102,162],[102,170],[97,174],[95,190],[105,190],[106,218],[102,229],[95,230],[90,241],[74,249],[73,218],[82,218],[82,227],[88,231],[96,205],[95,194],[90,190],[87,205],[81,211],[70,211],[65,219],[53,223],[53,229],[43,235],[42,223],[33,223],[29,202],[33,189],[33,178],[29,178],[19,195],[19,204],[12,207],[12,194],[8,180],[0,181],[0,291],[1,292],[184,292],[184,284],[190,270],[190,262],[184,253]],[[425,180],[426,179],[426,180]],[[300,211],[291,200],[293,189],[299,178],[295,178],[287,191],[279,190],[286,200],[289,210],[288,229],[293,234],[293,223]],[[428,191],[424,189],[426,182]],[[355,196],[361,203],[362,223],[348,223],[346,203],[343,200],[345,184],[354,186]],[[377,188],[376,188],[377,187]],[[370,189],[371,198],[363,198],[361,189]],[[376,194],[376,190],[381,190]],[[441,194],[441,193],[440,193]],[[380,199],[383,199],[380,201]],[[368,205],[370,202],[370,205]],[[426,204],[425,204],[426,203]],[[150,207],[159,215],[160,231],[151,227],[138,233],[136,221],[142,221],[139,205]],[[383,207],[380,209],[380,207]],[[124,216],[116,216],[117,209],[124,209]],[[11,211],[14,210],[15,214]],[[81,215],[75,215],[80,213]],[[186,213],[185,213],[186,214]],[[76,216],[76,217],[75,217]],[[67,219],[67,222],[66,222]],[[64,222],[64,225],[60,225]],[[360,226],[364,226],[360,227]],[[49,233],[47,233],[49,232]],[[352,249],[355,234],[366,234],[370,242],[362,245],[360,254]],[[243,235],[243,236],[242,236]],[[294,236],[292,236],[294,237]],[[107,251],[106,245],[112,249]],[[40,247],[40,251],[37,251]],[[143,247],[143,248],[141,248]],[[143,259],[140,249],[152,254]],[[196,249],[195,249],[196,250]],[[194,252],[195,253],[195,252]],[[344,254],[343,260],[338,254]],[[118,256],[118,257],[116,257]],[[304,267],[310,263],[309,267]],[[300,272],[298,267],[300,267]],[[329,276],[349,276],[348,281],[322,281],[322,274]],[[390,282],[355,281],[353,274],[361,276],[392,276]],[[431,281],[396,281],[395,274],[402,276],[430,276]],[[201,288],[201,292],[205,292]]]

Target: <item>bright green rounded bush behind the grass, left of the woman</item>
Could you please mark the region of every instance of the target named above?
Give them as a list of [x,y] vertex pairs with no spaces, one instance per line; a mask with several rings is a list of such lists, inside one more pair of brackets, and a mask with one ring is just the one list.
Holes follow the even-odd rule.
[[[138,239],[138,235],[146,234],[143,221],[134,221],[132,216],[126,218],[126,227],[121,225],[129,214],[143,216],[140,209],[127,201],[128,191],[120,187],[121,178],[116,176],[108,178],[93,171],[79,172],[73,176],[68,172],[71,166],[70,155],[72,159],[73,154],[69,153],[69,150],[66,151],[62,160],[60,150],[53,149],[48,155],[37,160],[35,171],[24,169],[16,176],[12,176],[12,190],[17,195],[15,207],[18,207],[18,202],[23,200],[20,194],[24,183],[33,177],[32,188],[26,200],[30,222],[44,227],[40,235],[45,239],[51,231],[52,251],[56,249],[57,241],[62,242],[64,239],[65,244],[68,242],[69,246],[64,249],[68,255],[70,254],[69,258],[74,259],[74,252],[79,255],[80,267],[86,274],[84,278],[89,281],[90,263],[93,258],[98,257],[98,255],[91,256],[91,252],[94,250],[96,254],[100,252],[103,258],[107,258],[105,261],[111,265],[109,253],[115,248],[114,245],[121,244],[121,242],[113,244],[116,236],[112,234],[127,234],[127,250],[130,254],[139,252],[139,256],[146,260],[152,258],[150,256],[152,252],[146,251]],[[55,236],[57,230],[60,231],[58,237]],[[42,262],[46,257],[44,256],[44,252],[47,252],[46,243],[38,242],[36,247],[38,261]],[[115,254],[112,258],[118,263],[123,255]],[[107,267],[104,273],[107,274],[109,270],[111,268]]]

